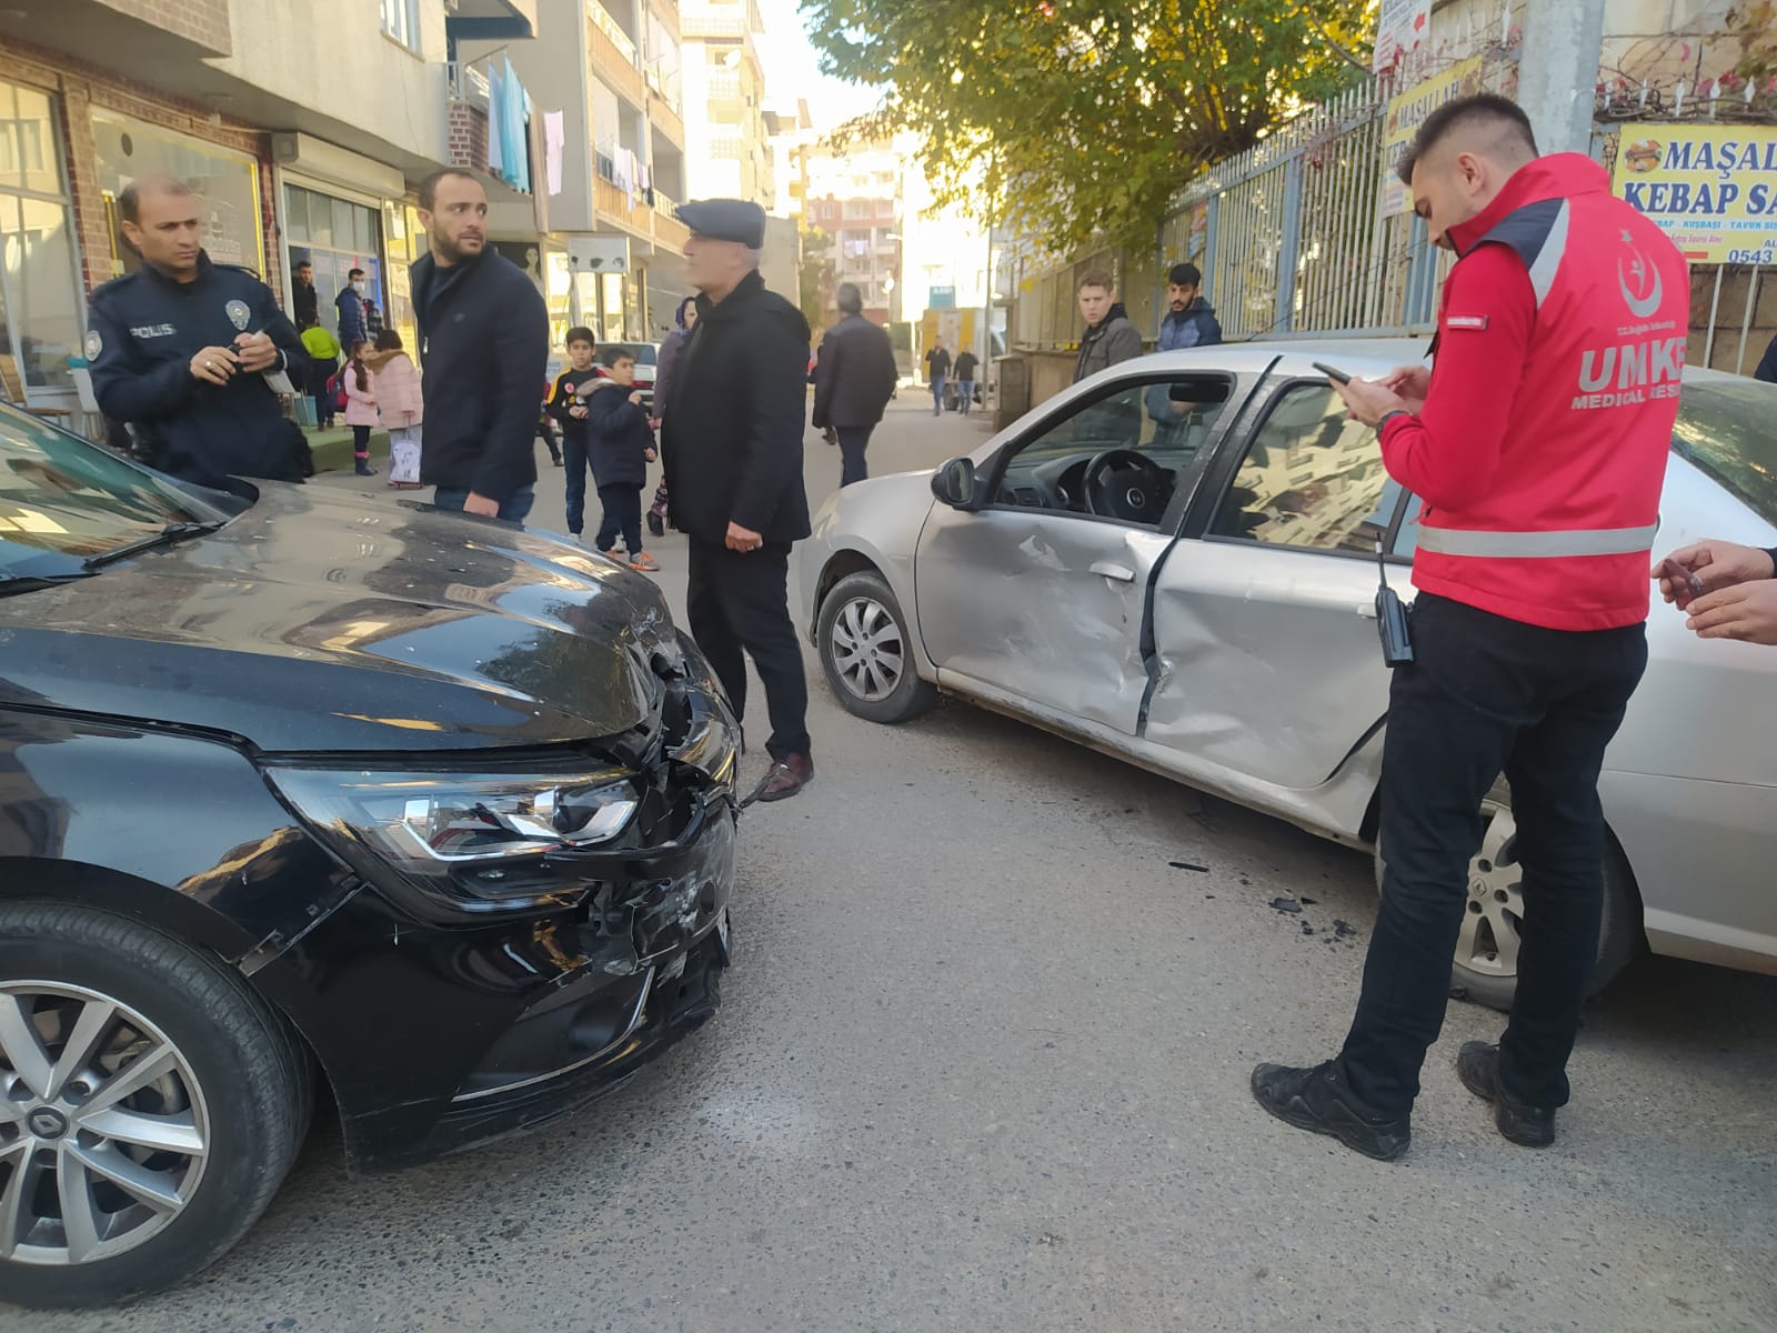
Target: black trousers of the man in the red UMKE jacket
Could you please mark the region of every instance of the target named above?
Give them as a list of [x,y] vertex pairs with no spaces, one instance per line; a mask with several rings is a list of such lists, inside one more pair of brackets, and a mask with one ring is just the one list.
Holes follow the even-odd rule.
[[1564,1106],[1605,899],[1598,773],[1647,666],[1646,633],[1542,629],[1422,592],[1413,647],[1390,691],[1388,866],[1345,1074],[1379,1114],[1413,1106],[1443,1027],[1480,802],[1503,771],[1525,917],[1500,1081],[1532,1106]]

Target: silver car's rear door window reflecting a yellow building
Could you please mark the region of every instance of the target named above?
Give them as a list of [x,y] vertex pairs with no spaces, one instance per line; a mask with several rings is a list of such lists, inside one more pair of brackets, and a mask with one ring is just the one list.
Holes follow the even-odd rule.
[[1400,498],[1375,432],[1324,382],[1294,384],[1253,435],[1210,535],[1370,555]]

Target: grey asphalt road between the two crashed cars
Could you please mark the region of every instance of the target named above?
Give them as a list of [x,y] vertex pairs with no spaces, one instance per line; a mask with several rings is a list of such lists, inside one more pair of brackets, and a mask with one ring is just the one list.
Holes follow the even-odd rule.
[[[984,439],[913,403],[876,471]],[[711,1026],[578,1125],[400,1177],[322,1125],[185,1290],[0,1328],[1777,1328],[1777,979],[1633,965],[1544,1153],[1457,1082],[1500,1020],[1452,1004],[1411,1153],[1370,1162],[1246,1086],[1336,1049],[1367,858],[974,707],[857,722],[809,670],[819,777],[743,821]]]

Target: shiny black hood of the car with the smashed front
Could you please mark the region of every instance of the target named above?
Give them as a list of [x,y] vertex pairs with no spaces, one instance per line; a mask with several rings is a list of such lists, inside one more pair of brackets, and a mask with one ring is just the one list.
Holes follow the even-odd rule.
[[490,519],[261,483],[222,530],[0,601],[0,704],[263,750],[617,736],[681,649],[659,588]]

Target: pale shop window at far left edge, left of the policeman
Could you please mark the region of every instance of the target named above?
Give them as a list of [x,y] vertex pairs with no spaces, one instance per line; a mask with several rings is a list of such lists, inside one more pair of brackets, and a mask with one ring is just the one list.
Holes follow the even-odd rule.
[[0,80],[0,396],[68,405],[85,300],[50,92]]

